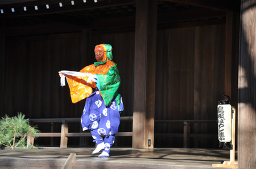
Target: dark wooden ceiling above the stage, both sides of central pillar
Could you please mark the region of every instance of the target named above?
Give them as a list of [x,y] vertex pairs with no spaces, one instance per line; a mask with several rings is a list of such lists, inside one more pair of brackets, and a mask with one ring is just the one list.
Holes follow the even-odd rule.
[[[239,4],[231,0],[159,0],[157,28],[224,23],[227,11],[239,11]],[[7,35],[81,29],[134,31],[135,15],[135,0],[0,1],[0,19],[5,20]]]

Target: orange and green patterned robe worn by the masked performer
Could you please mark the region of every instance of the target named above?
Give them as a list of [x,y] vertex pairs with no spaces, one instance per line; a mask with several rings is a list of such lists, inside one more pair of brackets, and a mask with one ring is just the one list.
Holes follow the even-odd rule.
[[[105,46],[104,46],[105,47]],[[106,48],[106,47],[105,47]],[[115,62],[109,61],[110,52],[105,52],[102,62],[95,62],[83,68],[81,73],[92,73],[96,75],[97,82],[87,82],[89,77],[74,77],[66,75],[72,103],[77,103],[92,94],[93,89],[97,87],[100,91],[106,106],[116,99],[118,110],[120,110],[120,94],[118,88],[120,86],[120,76]],[[110,59],[112,59],[110,57]]]

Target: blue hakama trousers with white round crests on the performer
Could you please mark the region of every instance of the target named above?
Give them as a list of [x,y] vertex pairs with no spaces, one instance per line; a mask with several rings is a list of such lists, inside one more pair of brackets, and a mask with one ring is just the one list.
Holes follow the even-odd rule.
[[116,105],[116,100],[106,107],[102,96],[98,89],[96,89],[86,99],[86,103],[81,117],[81,125],[83,131],[90,129],[93,142],[105,143],[105,149],[109,153],[110,147],[115,141],[115,133],[118,132],[120,124],[120,112],[124,110],[122,98],[120,97],[120,109]]

